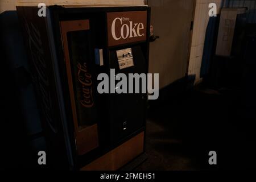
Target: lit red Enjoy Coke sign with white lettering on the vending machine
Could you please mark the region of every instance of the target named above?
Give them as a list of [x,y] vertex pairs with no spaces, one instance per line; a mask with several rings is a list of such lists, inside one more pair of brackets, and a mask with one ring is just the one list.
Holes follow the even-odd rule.
[[146,40],[147,11],[108,13],[107,19],[109,46]]

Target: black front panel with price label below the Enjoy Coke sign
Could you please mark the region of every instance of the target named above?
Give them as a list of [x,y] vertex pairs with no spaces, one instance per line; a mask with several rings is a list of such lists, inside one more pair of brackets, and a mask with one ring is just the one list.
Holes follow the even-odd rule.
[[[124,59],[120,59],[122,56]],[[111,95],[111,135],[112,143],[121,142],[129,135],[143,128],[145,125],[145,107],[147,94],[142,93],[142,79],[139,80],[140,91],[135,93],[135,79],[133,80],[133,93],[129,93],[129,73],[144,73],[146,76],[146,60],[144,58],[141,46],[133,46],[125,49],[110,51],[110,67],[115,69],[115,77],[120,74],[126,75],[127,78],[127,94],[116,93]],[[122,80],[122,78],[119,78]],[[146,82],[146,80],[143,80]],[[115,91],[119,88],[119,81],[115,81]],[[137,84],[138,85],[138,84]],[[122,85],[123,86],[123,85]],[[146,89],[146,88],[143,88]],[[125,89],[123,89],[125,90]]]

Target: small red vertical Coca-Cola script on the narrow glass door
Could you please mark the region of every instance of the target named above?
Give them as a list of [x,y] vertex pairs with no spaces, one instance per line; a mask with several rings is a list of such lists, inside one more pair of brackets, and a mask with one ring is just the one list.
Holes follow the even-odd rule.
[[94,104],[92,96],[92,75],[88,73],[86,63],[83,65],[78,63],[77,68],[78,80],[82,86],[82,97],[80,103],[84,107],[92,107]]

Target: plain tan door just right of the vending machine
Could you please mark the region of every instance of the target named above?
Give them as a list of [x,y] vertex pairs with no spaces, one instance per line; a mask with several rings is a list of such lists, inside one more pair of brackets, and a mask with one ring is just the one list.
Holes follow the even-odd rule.
[[160,39],[150,43],[149,72],[159,73],[159,88],[185,77],[191,39],[193,0],[148,0],[151,24]]

